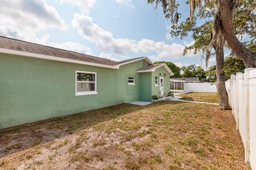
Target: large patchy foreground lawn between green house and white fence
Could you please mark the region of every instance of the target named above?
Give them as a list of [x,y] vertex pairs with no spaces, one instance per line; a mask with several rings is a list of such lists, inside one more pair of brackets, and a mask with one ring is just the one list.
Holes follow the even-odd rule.
[[0,169],[250,169],[231,111],[121,104],[0,130]]

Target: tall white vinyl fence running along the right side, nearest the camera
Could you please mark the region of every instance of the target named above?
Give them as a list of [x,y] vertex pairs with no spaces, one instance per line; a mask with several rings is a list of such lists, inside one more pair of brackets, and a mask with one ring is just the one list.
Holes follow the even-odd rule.
[[226,81],[229,105],[241,134],[245,162],[256,170],[256,69],[231,75]]

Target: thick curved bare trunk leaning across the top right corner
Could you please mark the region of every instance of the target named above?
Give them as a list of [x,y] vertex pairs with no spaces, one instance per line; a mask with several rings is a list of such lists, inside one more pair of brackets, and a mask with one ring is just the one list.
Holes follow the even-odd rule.
[[221,28],[228,46],[239,56],[245,67],[256,67],[256,54],[247,49],[234,33],[234,13],[238,0],[219,0]]

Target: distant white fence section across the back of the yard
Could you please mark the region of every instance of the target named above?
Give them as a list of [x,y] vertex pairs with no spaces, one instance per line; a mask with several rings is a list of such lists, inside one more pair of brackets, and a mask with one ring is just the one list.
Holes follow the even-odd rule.
[[217,92],[216,84],[204,83],[184,83],[184,92]]

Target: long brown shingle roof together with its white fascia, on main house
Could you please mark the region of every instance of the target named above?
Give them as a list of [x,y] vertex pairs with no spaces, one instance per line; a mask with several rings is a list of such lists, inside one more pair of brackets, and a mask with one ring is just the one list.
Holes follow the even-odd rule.
[[109,67],[112,69],[119,69],[119,66],[121,65],[139,60],[146,60],[149,64],[153,64],[147,57],[132,58],[130,60],[118,62],[108,60],[106,58],[71,52],[65,49],[29,43],[27,41],[7,38],[3,36],[0,36],[0,53],[36,57],[45,60]]

